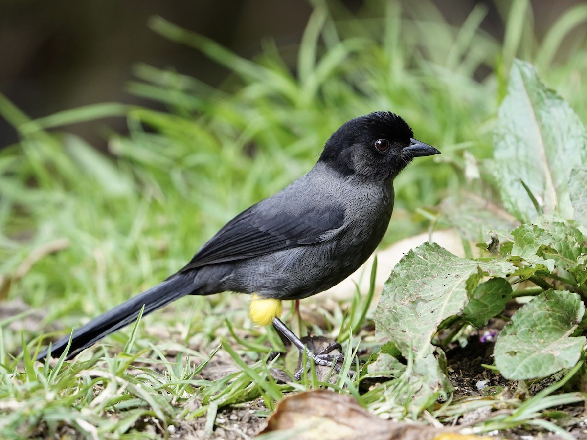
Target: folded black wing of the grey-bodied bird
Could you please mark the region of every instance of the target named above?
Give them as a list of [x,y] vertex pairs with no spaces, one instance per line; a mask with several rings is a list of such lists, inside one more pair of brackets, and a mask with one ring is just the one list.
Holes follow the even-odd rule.
[[335,205],[302,209],[296,214],[289,209],[274,214],[268,211],[257,204],[241,212],[194,255],[182,272],[319,243],[345,222],[345,210]]

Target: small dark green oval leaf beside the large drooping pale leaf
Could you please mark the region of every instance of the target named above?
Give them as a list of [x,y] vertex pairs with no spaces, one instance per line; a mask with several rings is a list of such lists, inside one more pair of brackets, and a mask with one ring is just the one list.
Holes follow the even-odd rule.
[[505,308],[512,293],[512,287],[504,278],[492,278],[481,283],[471,295],[463,310],[463,319],[475,327],[483,327]]

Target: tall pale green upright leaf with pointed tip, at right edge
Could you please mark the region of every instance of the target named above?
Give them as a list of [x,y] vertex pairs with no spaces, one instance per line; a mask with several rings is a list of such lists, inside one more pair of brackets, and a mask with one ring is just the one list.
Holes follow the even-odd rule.
[[496,127],[492,173],[505,208],[522,222],[537,218],[529,191],[545,214],[572,218],[569,164],[587,164],[587,135],[571,106],[529,63],[514,61]]

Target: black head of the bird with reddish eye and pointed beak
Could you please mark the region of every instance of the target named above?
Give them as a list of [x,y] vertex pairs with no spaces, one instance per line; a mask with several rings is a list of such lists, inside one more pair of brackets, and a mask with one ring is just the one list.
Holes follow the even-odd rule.
[[387,111],[360,116],[343,124],[326,142],[319,162],[344,174],[373,180],[394,178],[414,157],[440,154],[414,139],[410,126]]

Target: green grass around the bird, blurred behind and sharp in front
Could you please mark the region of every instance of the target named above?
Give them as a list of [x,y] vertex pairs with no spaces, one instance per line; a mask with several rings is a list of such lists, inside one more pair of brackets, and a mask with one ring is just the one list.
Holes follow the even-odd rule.
[[[70,363],[39,367],[31,357],[41,331],[65,334],[176,271],[232,216],[309,170],[330,133],[359,114],[397,111],[417,138],[443,152],[397,178],[384,244],[426,228],[446,194],[468,187],[492,197],[486,184],[465,177],[467,155],[491,156],[514,56],[537,63],[545,82],[587,120],[585,35],[571,34],[587,19],[585,5],[561,15],[540,40],[529,2],[513,5],[502,10],[501,41],[480,28],[483,5],[452,26],[428,2],[405,11],[373,2],[356,16],[315,2],[295,61],[271,41],[254,60],[241,59],[153,18],[155,32],[228,67],[225,84],[212,89],[185,73],[139,65],[129,91],[167,111],[105,103],[33,121],[0,96],[0,113],[21,137],[0,153],[0,294],[27,306],[18,319],[0,321],[0,430],[9,437],[156,438],[194,424],[211,434],[226,405],[254,401],[262,417],[286,392],[322,386],[355,395],[379,414],[423,417],[388,398],[406,390],[407,377],[366,393],[359,375],[329,385],[315,375],[276,383],[269,368],[284,369],[283,361],[268,352],[279,348],[278,337],[252,327],[247,300],[230,293],[183,299]],[[383,18],[369,8],[384,9]],[[63,128],[110,115],[126,116],[129,134],[109,133],[108,157]],[[328,329],[312,330],[352,340],[347,350],[359,336],[361,347],[372,346],[365,330],[372,293],[322,310]],[[201,378],[205,365],[218,369],[221,361],[237,367]],[[450,419],[468,409],[458,408],[434,415]],[[495,419],[492,429],[533,420],[528,405],[524,411]]]

